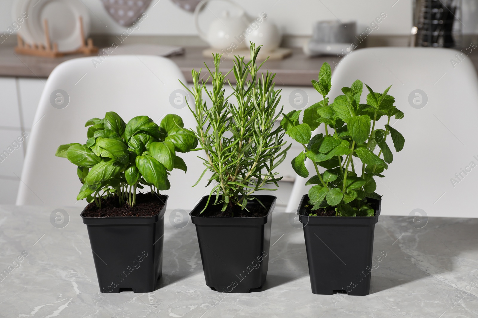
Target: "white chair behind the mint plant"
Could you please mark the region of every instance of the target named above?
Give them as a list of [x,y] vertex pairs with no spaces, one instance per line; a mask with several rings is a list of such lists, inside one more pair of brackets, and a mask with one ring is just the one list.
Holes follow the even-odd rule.
[[[460,53],[369,48],[354,51],[333,71],[331,102],[342,94],[343,86],[350,87],[357,79],[375,92],[393,84],[389,94],[405,113],[396,124],[391,120],[405,137],[405,146],[395,153],[390,143],[393,162],[383,173],[386,177],[377,178],[382,215],[409,215],[423,209],[428,216],[478,217],[478,80],[472,62],[463,55],[458,58]],[[367,93],[364,86],[362,103]],[[309,188],[304,184],[305,179],[297,176],[287,211],[297,209]]]

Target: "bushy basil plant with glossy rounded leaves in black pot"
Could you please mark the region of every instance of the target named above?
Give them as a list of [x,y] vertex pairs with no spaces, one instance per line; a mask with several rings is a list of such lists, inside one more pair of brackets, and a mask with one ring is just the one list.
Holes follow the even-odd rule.
[[[186,172],[176,153],[197,145],[181,117],[166,115],[158,126],[148,116],[125,123],[114,112],[86,125],[86,144],[63,144],[56,156],[77,166],[83,184],[77,200],[89,204],[87,225],[100,291],[152,292],[162,273],[164,212],[169,171]],[[137,189],[150,189],[138,193]]]

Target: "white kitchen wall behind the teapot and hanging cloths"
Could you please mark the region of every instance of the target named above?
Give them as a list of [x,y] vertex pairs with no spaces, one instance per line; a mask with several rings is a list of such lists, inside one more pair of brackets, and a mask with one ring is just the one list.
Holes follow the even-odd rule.
[[[119,34],[124,31],[103,8],[100,0],[81,0],[91,13],[92,32]],[[251,15],[266,12],[280,25],[285,34],[310,35],[312,25],[319,20],[358,21],[359,29],[365,29],[380,12],[387,18],[374,31],[374,35],[405,35],[412,25],[412,0],[233,0]],[[0,30],[11,24],[11,5],[13,0],[1,0]],[[208,6],[216,16],[220,15],[219,1]],[[196,35],[192,14],[177,8],[171,0],[152,0],[147,11],[148,18],[135,31],[137,35]],[[478,0],[463,0],[463,31],[466,34],[478,33]],[[205,10],[204,24],[215,16]]]

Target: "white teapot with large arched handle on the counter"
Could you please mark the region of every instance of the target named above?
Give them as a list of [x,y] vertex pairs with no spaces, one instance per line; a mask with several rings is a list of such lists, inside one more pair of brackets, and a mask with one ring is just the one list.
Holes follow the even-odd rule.
[[246,41],[241,41],[240,39],[249,25],[249,19],[244,9],[230,0],[223,1],[229,2],[237,7],[239,9],[238,16],[231,17],[229,16],[229,12],[225,11],[223,18],[211,22],[207,33],[201,31],[198,23],[199,11],[206,6],[206,3],[209,1],[211,0],[202,0],[196,7],[196,10],[194,10],[194,20],[199,37],[206,41],[213,49],[227,49],[232,43],[235,43],[234,48],[246,49],[248,47]]

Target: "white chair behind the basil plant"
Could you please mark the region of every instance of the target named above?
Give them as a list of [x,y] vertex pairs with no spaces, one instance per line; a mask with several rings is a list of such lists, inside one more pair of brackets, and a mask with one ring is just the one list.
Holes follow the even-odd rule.
[[[64,62],[48,78],[29,137],[17,205],[87,204],[85,200],[76,201],[81,187],[76,167],[65,158],[55,157],[55,150],[60,144],[85,143],[85,123],[90,118],[103,118],[106,112],[115,111],[125,122],[148,115],[159,124],[165,114],[175,113],[183,118],[186,128],[194,129],[189,109],[176,109],[172,106],[176,103],[170,103],[181,98],[175,90],[184,90],[178,80],[185,83],[174,62],[148,55],[108,56],[100,64],[93,60],[98,58]],[[57,90],[63,91],[64,104]],[[55,98],[61,105],[55,104]],[[67,106],[58,109],[67,99]],[[178,169],[171,172],[171,189],[163,191],[169,195],[168,209],[190,210],[203,194],[208,194],[206,180],[191,187],[204,170],[196,155],[179,154],[188,169],[187,174]]]

